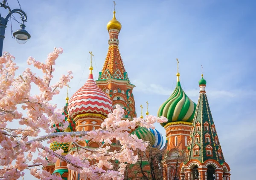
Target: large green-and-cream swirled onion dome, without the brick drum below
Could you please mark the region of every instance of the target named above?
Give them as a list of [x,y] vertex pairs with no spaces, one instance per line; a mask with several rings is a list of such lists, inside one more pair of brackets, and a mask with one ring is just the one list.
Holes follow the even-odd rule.
[[162,126],[176,121],[192,122],[195,108],[195,102],[184,93],[180,81],[178,81],[172,95],[158,109],[157,116],[164,116],[168,119],[168,122],[161,124]]

